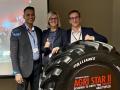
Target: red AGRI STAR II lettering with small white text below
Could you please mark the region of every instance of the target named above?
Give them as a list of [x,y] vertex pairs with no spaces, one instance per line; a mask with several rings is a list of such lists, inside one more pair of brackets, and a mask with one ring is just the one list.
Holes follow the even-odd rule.
[[83,90],[86,88],[107,89],[111,88],[111,83],[111,74],[75,77],[74,90]]

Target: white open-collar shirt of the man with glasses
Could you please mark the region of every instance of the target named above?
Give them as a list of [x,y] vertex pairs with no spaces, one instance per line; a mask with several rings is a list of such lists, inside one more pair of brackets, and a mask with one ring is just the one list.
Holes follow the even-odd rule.
[[82,40],[82,32],[81,32],[81,27],[79,30],[76,32],[74,30],[71,31],[71,41],[70,43],[76,42],[78,40]]

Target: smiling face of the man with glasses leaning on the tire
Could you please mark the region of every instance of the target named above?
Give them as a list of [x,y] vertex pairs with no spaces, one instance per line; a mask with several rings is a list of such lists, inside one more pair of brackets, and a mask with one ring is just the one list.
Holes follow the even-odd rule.
[[72,27],[80,27],[80,16],[77,12],[73,12],[69,15],[69,23]]

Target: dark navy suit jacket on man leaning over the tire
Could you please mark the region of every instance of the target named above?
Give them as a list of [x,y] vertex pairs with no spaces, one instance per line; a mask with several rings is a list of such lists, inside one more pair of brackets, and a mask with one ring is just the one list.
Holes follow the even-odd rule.
[[[94,36],[95,37],[95,41],[100,41],[100,42],[105,42],[107,43],[108,40],[106,37],[96,33],[93,28],[86,28],[86,27],[82,27],[82,39],[85,40],[85,36],[88,34],[90,36]],[[71,29],[67,30],[67,41],[68,43],[70,43],[71,41]]]

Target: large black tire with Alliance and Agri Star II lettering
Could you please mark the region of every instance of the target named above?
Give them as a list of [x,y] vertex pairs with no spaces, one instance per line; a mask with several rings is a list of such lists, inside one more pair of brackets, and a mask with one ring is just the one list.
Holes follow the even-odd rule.
[[78,41],[44,69],[43,90],[120,90],[120,55],[102,42]]

